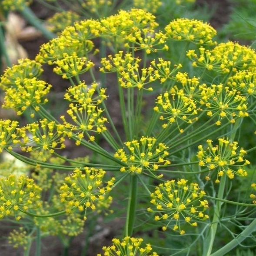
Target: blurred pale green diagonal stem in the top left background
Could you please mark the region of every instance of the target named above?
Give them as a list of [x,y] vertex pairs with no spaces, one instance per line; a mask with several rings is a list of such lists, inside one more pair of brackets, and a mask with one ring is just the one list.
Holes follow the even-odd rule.
[[47,37],[48,39],[53,39],[56,35],[49,30],[47,30],[42,22],[35,16],[29,7],[24,7],[20,12],[23,14],[23,17],[35,28],[40,30],[40,32]]

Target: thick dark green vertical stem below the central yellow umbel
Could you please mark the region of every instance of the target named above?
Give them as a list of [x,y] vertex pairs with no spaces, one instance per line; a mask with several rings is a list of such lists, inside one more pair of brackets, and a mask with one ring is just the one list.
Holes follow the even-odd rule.
[[125,236],[132,236],[137,202],[137,176],[130,175],[129,197],[126,215]]

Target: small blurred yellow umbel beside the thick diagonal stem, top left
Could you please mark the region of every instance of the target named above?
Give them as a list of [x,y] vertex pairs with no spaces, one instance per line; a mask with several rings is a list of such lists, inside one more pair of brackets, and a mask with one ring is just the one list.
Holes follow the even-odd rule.
[[73,11],[63,11],[55,13],[52,17],[47,19],[47,27],[53,32],[60,34],[66,27],[73,25],[80,20],[80,16]]

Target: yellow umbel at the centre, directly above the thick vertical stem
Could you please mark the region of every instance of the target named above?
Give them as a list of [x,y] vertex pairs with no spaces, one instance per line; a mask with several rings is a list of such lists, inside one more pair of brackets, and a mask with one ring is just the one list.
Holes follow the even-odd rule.
[[170,164],[169,160],[165,160],[169,155],[166,151],[168,147],[164,143],[156,143],[155,138],[143,136],[140,140],[127,141],[124,144],[126,149],[119,149],[114,155],[127,165],[121,167],[121,172],[141,174],[147,170],[152,173],[151,171],[160,166]]

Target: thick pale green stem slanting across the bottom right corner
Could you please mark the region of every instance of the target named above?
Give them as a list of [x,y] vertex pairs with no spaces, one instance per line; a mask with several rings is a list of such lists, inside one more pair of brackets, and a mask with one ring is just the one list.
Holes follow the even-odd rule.
[[243,242],[244,239],[248,238],[248,236],[256,230],[256,219],[250,223],[246,229],[243,230],[238,236],[236,236],[232,241],[227,243],[221,249],[217,250],[215,253],[211,254],[210,256],[223,256],[226,253],[230,252],[233,248],[238,246],[240,243]]

